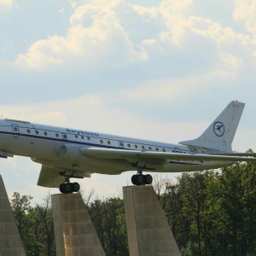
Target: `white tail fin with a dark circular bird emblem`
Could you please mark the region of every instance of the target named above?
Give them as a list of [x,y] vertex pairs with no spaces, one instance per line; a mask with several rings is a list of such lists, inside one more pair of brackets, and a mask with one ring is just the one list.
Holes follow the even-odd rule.
[[230,102],[200,137],[195,140],[180,142],[180,144],[203,151],[232,152],[231,144],[244,106],[245,104],[242,102]]

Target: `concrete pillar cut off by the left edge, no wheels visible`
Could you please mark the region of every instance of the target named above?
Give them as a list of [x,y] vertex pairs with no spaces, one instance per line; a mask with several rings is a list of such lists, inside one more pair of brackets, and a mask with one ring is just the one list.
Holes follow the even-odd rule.
[[0,255],[26,256],[15,216],[0,175]]

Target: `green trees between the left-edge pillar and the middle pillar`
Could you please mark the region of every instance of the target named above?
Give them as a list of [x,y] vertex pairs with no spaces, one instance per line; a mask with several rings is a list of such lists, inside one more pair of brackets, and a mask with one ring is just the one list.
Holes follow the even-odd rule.
[[55,255],[54,228],[50,197],[43,205],[31,206],[31,195],[15,192],[11,200],[20,237],[27,256]]

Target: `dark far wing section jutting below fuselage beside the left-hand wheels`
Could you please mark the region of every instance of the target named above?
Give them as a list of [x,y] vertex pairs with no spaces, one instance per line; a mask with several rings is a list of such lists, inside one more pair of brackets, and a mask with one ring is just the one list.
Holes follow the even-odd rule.
[[38,186],[47,188],[59,188],[63,183],[63,176],[60,175],[61,169],[42,165],[40,175],[38,177]]

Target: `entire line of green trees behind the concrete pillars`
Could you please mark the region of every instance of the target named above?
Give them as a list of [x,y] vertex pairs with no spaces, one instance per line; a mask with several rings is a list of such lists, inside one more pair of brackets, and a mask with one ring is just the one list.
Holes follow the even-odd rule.
[[[187,172],[175,182],[155,177],[154,189],[183,256],[256,255],[255,163]],[[89,199],[84,202],[106,255],[128,256],[123,199]],[[50,195],[34,207],[31,201],[17,192],[11,199],[26,255],[55,255]]]

